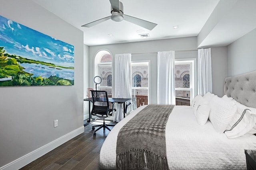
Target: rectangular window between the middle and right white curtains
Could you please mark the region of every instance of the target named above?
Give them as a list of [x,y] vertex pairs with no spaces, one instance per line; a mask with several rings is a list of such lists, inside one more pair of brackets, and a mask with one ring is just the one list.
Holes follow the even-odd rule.
[[175,98],[176,105],[191,105],[194,98],[195,59],[175,60]]

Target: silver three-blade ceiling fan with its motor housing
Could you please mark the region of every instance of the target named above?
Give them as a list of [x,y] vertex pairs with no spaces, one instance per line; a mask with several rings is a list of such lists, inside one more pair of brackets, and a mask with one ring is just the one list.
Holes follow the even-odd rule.
[[124,15],[124,6],[122,2],[120,2],[119,0],[109,0],[109,1],[111,4],[111,16],[87,23],[85,25],[82,25],[82,27],[92,27],[98,23],[102,23],[103,21],[106,21],[109,19],[117,22],[126,20],[149,30],[152,30],[157,25],[156,23],[152,23],[149,21],[141,20],[139,18]]

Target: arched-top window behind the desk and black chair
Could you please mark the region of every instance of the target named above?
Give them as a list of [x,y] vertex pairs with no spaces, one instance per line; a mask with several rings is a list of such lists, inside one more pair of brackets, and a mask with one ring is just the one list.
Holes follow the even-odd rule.
[[106,90],[108,96],[112,96],[112,56],[106,51],[99,51],[94,59],[94,76],[102,78],[97,90]]

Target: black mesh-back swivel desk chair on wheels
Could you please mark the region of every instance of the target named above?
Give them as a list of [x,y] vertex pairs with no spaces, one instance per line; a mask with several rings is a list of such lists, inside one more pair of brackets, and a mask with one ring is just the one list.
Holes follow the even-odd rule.
[[100,130],[103,127],[103,131],[105,128],[111,131],[108,126],[114,125],[107,125],[105,124],[105,118],[110,117],[113,114],[113,111],[116,111],[114,108],[114,103],[112,103],[112,108],[110,108],[110,102],[108,102],[108,94],[106,91],[97,91],[91,90],[92,92],[92,111],[91,115],[97,116],[99,119],[103,119],[103,125],[94,125],[92,129],[94,130],[95,127],[99,127],[94,131],[93,136],[96,136],[96,131]]

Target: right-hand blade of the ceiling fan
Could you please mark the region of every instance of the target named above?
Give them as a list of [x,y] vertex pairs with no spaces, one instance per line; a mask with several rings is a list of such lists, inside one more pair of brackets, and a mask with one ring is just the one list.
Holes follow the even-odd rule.
[[149,30],[152,30],[157,25],[156,23],[141,20],[139,18],[135,18],[132,16],[128,16],[128,15],[124,15],[124,14],[123,14],[123,16],[124,16],[124,20],[129,21],[131,23],[135,23],[136,25],[139,25],[139,26],[144,27]]

